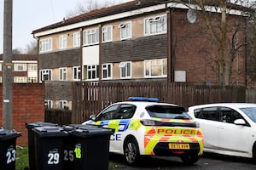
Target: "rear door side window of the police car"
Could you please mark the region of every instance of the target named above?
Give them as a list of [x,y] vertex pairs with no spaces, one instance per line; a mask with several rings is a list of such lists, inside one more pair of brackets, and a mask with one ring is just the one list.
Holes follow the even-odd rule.
[[135,105],[122,104],[119,111],[115,113],[113,119],[130,119],[136,111]]

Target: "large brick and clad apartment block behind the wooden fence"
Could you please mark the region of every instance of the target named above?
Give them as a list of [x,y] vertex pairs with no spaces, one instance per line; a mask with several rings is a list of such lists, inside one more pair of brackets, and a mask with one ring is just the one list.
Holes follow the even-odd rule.
[[[216,47],[202,17],[189,21],[188,11],[183,3],[136,0],[32,31],[38,38],[39,81],[216,84],[218,76],[212,69],[216,65],[209,58],[216,54]],[[232,11],[230,32],[241,15],[238,9]],[[246,83],[245,53],[238,55],[232,80],[241,85]],[[71,107],[70,101],[62,102]]]

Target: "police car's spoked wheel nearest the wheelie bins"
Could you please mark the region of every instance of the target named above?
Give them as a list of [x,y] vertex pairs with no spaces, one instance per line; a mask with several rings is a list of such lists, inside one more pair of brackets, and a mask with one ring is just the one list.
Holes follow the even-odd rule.
[[124,150],[126,163],[136,165],[140,156],[136,139],[127,139]]

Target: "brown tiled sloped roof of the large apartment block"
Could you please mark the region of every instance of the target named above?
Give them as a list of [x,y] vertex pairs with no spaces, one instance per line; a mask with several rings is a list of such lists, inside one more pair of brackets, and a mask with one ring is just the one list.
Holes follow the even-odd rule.
[[[216,3],[216,1],[218,1],[218,0],[205,0],[205,3],[207,2],[207,4],[212,5],[212,4]],[[168,2],[170,3],[170,1],[167,1],[167,0],[134,0],[134,1],[131,1],[128,3],[120,3],[118,5],[114,5],[114,6],[107,7],[107,8],[91,10],[88,13],[79,14],[77,16],[74,16],[73,18],[62,20],[60,22],[57,22],[57,23],[49,25],[49,26],[44,26],[42,28],[32,31],[32,34],[42,32],[42,31],[49,31],[49,30],[52,30],[52,29],[55,29],[55,28],[58,28],[61,26],[69,26],[72,24],[86,21],[86,20],[94,20],[94,19],[101,18],[101,17],[108,16],[108,15],[121,14],[121,13],[128,12],[131,10],[136,10],[139,8],[146,8],[146,7],[154,6],[154,5],[161,4],[161,3],[168,3]],[[177,2],[177,1],[173,0],[172,3],[173,2]],[[189,0],[183,0],[183,2],[189,2]],[[193,1],[191,1],[191,2],[193,2]],[[228,3],[228,6],[232,7],[232,8],[236,8],[236,9],[241,9],[241,6],[236,5],[234,3]]]

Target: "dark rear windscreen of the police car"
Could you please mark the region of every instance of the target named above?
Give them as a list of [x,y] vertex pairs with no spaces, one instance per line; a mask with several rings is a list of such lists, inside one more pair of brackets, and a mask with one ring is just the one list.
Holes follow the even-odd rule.
[[183,107],[172,105],[150,105],[146,107],[149,116],[163,119],[191,119]]

